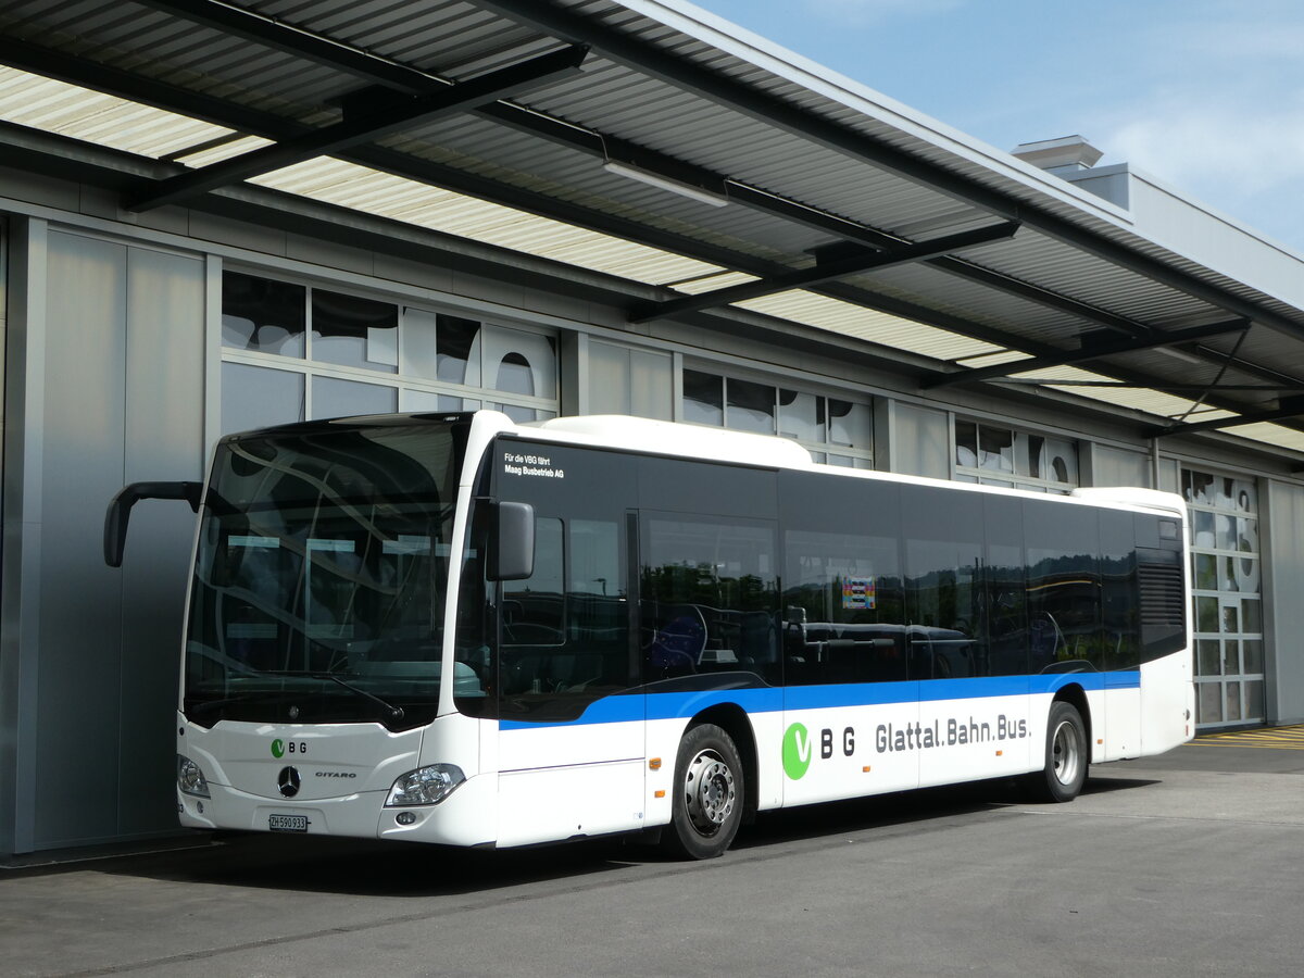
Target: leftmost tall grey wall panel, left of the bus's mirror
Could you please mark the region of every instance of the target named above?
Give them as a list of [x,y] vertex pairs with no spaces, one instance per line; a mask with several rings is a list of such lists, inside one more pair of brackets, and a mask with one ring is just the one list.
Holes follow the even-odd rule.
[[37,848],[117,835],[121,576],[100,541],[123,484],[126,248],[51,233],[47,283]]

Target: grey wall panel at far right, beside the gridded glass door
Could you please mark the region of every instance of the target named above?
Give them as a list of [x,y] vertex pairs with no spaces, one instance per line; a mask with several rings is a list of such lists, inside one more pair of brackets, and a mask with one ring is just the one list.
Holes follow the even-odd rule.
[[1304,722],[1304,488],[1269,481],[1264,516],[1267,721],[1299,724]]

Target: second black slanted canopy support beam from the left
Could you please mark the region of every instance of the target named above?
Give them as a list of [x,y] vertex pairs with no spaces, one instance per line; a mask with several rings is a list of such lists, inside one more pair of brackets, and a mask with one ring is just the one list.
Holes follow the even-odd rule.
[[964,231],[958,235],[948,235],[947,237],[936,239],[934,241],[921,241],[919,244],[905,245],[891,252],[875,252],[872,254],[862,253],[845,258],[833,258],[827,262],[819,262],[812,269],[789,271],[784,275],[760,279],[759,282],[746,282],[741,286],[732,286],[730,288],[717,288],[712,292],[703,292],[696,296],[685,296],[683,299],[672,299],[668,303],[659,303],[652,306],[635,309],[630,314],[630,322],[643,323],[653,319],[665,319],[673,316],[696,312],[698,309],[730,305],[732,303],[742,303],[748,299],[773,295],[775,292],[788,292],[793,288],[808,288],[811,286],[832,282],[835,279],[842,279],[848,275],[855,275],[858,273],[891,269],[896,265],[909,265],[911,262],[923,261],[925,258],[931,258],[936,254],[949,254],[952,252],[964,250],[965,248],[974,248],[977,245],[1012,237],[1016,231],[1018,231],[1017,222],[1005,222],[991,227],[977,228],[974,231]]

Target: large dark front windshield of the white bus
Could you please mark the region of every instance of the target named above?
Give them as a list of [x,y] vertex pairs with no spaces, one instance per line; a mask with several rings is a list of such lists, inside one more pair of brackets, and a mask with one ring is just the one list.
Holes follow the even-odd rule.
[[335,422],[219,445],[190,593],[186,717],[390,729],[434,717],[467,428]]

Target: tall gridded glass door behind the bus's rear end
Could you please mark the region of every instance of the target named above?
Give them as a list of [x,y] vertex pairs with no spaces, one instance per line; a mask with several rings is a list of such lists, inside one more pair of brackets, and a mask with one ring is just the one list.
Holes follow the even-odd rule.
[[1251,479],[1181,471],[1191,509],[1196,722],[1264,719],[1258,492]]

